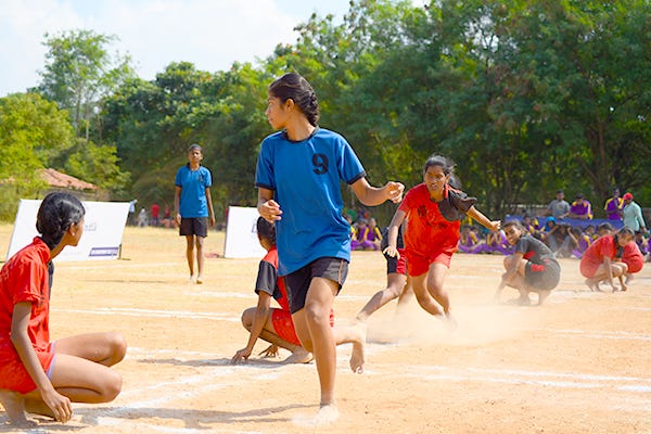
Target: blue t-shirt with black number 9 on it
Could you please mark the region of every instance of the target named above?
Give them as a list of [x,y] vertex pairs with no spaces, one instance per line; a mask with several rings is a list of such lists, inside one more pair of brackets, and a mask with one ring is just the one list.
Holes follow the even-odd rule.
[[263,141],[255,186],[273,190],[282,210],[276,222],[280,276],[321,257],[350,260],[341,181],[352,184],[365,176],[355,151],[336,132],[317,128],[292,142],[280,131]]

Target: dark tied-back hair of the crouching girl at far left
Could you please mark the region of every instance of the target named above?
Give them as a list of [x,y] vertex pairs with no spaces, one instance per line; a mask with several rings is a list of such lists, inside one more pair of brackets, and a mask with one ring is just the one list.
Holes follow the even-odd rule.
[[38,208],[36,230],[50,250],[56,247],[66,230],[81,221],[86,209],[81,202],[69,193],[48,194]]

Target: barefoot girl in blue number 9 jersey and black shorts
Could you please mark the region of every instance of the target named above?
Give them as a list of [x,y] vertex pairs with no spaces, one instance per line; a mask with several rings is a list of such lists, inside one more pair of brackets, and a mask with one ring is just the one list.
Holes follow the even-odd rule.
[[[334,400],[336,346],[330,309],[350,260],[350,227],[342,216],[341,181],[367,206],[399,202],[405,186],[372,187],[353,148],[318,127],[317,95],[305,78],[285,74],[269,86],[265,112],[281,131],[260,146],[255,184],[258,212],[275,221],[279,275],[285,279],[296,334],[311,352],[321,386],[317,423],[339,416]],[[358,323],[363,328],[363,323]],[[363,346],[354,345],[350,368],[361,372]]]

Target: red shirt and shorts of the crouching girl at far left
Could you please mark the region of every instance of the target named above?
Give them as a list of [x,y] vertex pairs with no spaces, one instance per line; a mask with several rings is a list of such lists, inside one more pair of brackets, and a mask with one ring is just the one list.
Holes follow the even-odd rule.
[[0,271],[0,388],[26,394],[36,388],[11,342],[14,305],[31,303],[27,333],[36,355],[48,372],[54,353],[50,345],[50,248],[40,238],[23,247]]

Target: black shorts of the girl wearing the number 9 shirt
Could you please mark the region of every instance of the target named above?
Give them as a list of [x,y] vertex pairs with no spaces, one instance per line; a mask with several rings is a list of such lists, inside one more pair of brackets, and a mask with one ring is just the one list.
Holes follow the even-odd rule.
[[305,307],[305,298],[314,278],[329,279],[339,284],[337,292],[348,276],[348,261],[335,257],[322,257],[312,260],[303,268],[285,276],[284,282],[290,297],[290,312],[295,314]]

